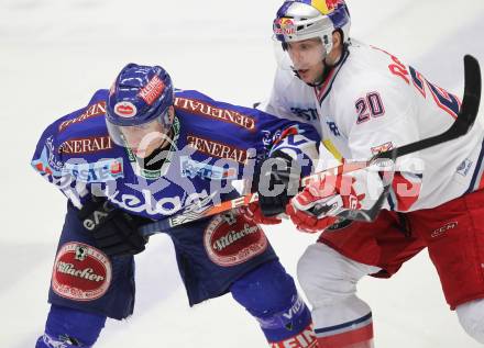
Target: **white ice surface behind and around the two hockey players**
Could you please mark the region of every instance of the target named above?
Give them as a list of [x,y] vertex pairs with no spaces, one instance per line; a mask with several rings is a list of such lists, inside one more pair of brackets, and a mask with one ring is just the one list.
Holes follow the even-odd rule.
[[[129,61],[158,64],[183,89],[250,105],[272,86],[272,19],[279,1],[0,0],[0,347],[33,348],[65,200],[30,168],[41,132],[109,88]],[[462,94],[462,56],[484,65],[484,1],[348,0],[352,36]],[[442,145],[444,146],[444,145]],[[267,235],[287,270],[316,239],[285,223]],[[265,347],[230,295],[189,308],[172,245],[136,257],[134,315],[110,321],[97,347]],[[323,266],[321,266],[323,267]],[[461,329],[426,251],[391,280],[366,279],[376,347],[481,347]]]

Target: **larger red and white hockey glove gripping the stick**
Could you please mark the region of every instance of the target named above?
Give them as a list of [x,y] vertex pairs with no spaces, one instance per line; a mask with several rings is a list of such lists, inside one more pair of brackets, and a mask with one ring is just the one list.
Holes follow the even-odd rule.
[[365,194],[356,194],[352,176],[326,176],[290,200],[286,213],[299,231],[322,232],[345,210],[361,209]]

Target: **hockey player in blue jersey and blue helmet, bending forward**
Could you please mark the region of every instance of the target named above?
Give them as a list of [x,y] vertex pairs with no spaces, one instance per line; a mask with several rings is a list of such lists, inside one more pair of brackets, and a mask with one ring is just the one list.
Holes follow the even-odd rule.
[[[35,347],[92,347],[107,317],[133,313],[133,255],[147,243],[139,226],[233,198],[232,180],[254,177],[254,184],[260,172],[268,200],[284,206],[289,182],[264,169],[267,159],[287,170],[293,159],[306,161],[299,169],[308,175],[318,139],[308,125],[174,91],[158,66],[125,66],[109,91],[50,125],[33,156],[68,198]],[[271,197],[276,187],[283,190]],[[231,211],[164,232],[190,305],[231,292],[271,347],[316,347],[309,311],[254,222]]]

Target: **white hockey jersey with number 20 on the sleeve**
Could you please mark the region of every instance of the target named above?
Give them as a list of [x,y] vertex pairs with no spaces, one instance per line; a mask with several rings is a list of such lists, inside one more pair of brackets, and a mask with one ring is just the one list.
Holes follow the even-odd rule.
[[[460,98],[426,80],[397,57],[352,42],[320,88],[278,69],[265,110],[312,124],[336,158],[366,160],[374,154],[447,131]],[[484,130],[409,154],[397,161],[387,209],[438,206],[483,188]],[[410,187],[417,194],[408,194]]]

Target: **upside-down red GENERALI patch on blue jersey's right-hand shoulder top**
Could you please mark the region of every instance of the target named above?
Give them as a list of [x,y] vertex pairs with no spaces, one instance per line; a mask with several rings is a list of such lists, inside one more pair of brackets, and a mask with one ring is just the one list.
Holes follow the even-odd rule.
[[249,131],[255,131],[255,120],[240,112],[221,109],[209,103],[187,98],[175,98],[175,108],[200,116],[208,116],[234,124]]

